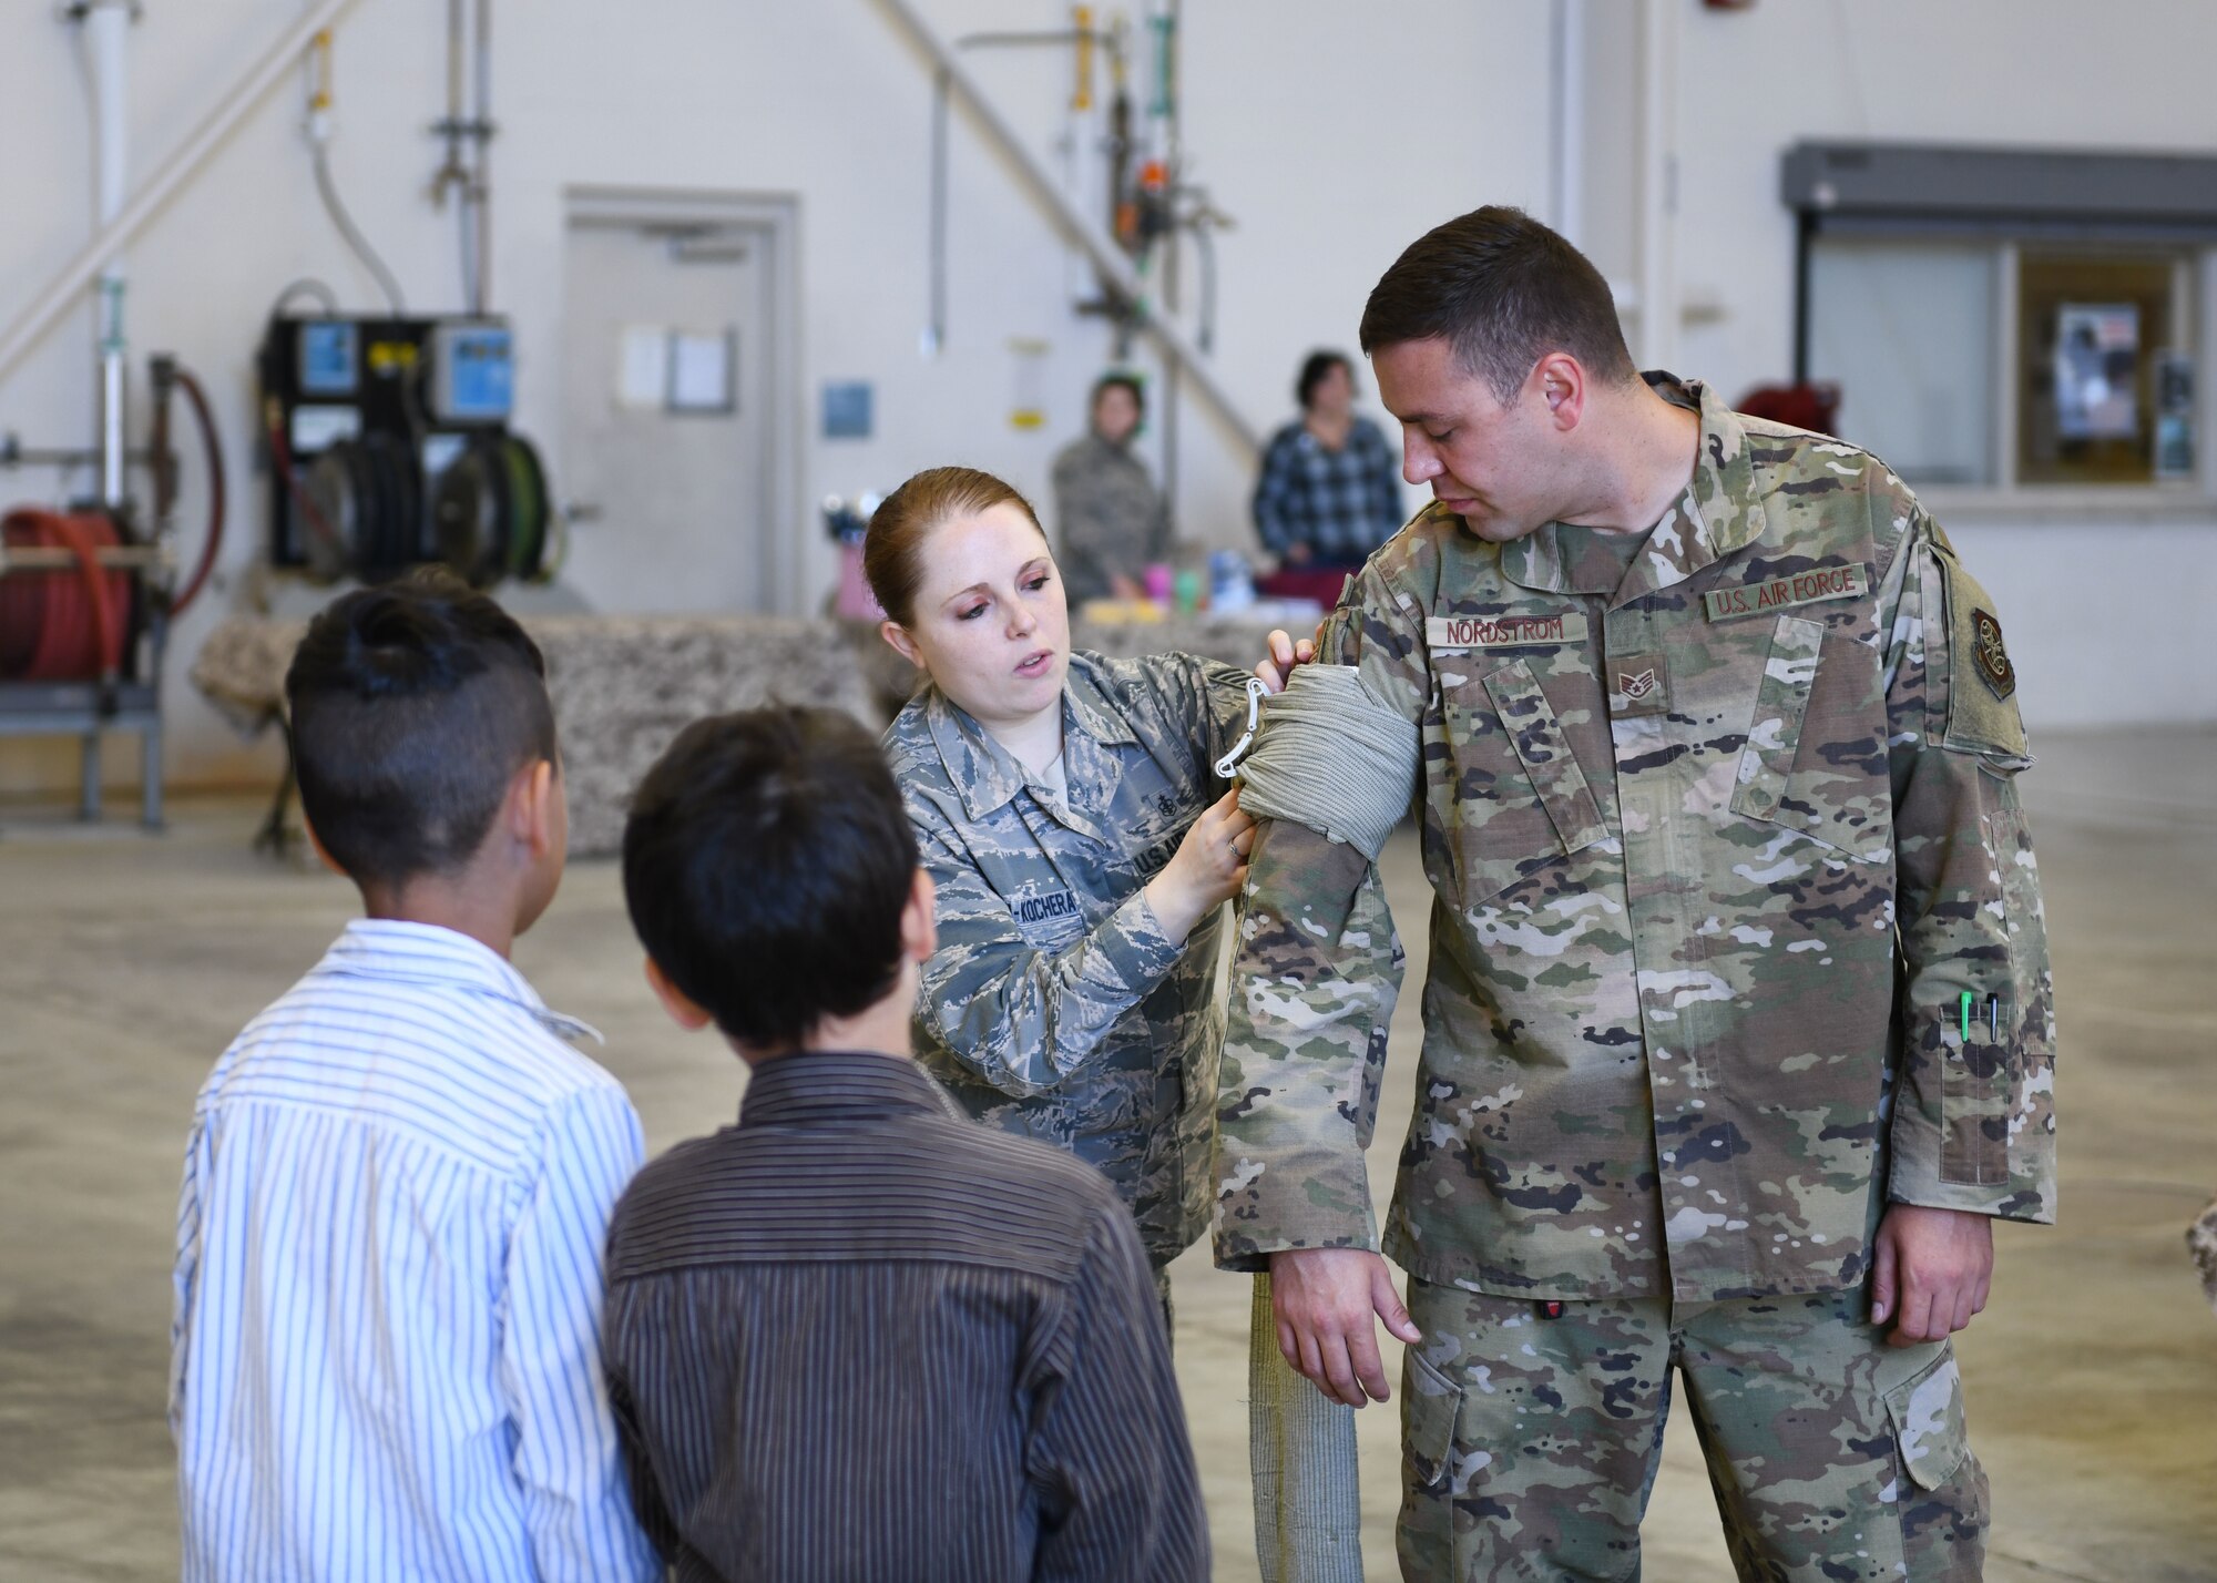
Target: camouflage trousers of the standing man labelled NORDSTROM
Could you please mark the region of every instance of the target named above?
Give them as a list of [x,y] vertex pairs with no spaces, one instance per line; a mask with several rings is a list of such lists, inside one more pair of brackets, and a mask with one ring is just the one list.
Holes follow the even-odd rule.
[[1539,1304],[1410,1279],[1401,1574],[1638,1579],[1672,1370],[1743,1581],[1980,1576],[1986,1474],[1947,1341],[1887,1346],[1862,1290]]

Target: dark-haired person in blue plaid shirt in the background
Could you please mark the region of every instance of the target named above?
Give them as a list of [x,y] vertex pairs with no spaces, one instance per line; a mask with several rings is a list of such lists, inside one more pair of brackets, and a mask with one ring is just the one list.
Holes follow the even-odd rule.
[[[1341,353],[1310,353],[1295,386],[1301,419],[1270,437],[1255,483],[1255,532],[1279,570],[1352,572],[1401,525],[1399,452],[1355,415],[1355,368]],[[1290,592],[1290,590],[1288,590]]]

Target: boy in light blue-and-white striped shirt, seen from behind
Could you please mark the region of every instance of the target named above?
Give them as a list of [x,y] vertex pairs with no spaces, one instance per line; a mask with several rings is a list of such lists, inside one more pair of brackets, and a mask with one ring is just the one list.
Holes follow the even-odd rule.
[[601,1379],[638,1117],[508,962],[568,838],[543,674],[450,576],[346,594],[286,672],[302,811],[368,918],[193,1106],[188,1583],[661,1576]]

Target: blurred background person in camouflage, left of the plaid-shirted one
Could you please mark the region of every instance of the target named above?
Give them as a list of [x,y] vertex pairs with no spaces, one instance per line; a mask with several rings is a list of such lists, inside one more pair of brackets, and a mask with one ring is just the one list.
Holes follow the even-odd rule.
[[1133,375],[1093,381],[1091,423],[1055,457],[1055,519],[1062,525],[1064,594],[1140,599],[1140,574],[1171,554],[1171,508],[1131,452],[1146,412]]

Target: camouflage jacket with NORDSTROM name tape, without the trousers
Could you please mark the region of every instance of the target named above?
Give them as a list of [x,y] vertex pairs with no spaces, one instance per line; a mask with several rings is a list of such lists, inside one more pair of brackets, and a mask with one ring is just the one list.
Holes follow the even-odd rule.
[[[1437,898],[1383,1248],[1428,1281],[1833,1290],[1889,1197],[2055,1213],[2031,760],[1993,601],[1876,457],[1658,388],[1698,404],[1700,455],[1629,572],[1565,554],[1579,532],[1490,545],[1428,508],[1326,632],[1421,734]],[[1361,1146],[1397,989],[1377,871],[1264,827],[1219,1264],[1379,1246]]]

